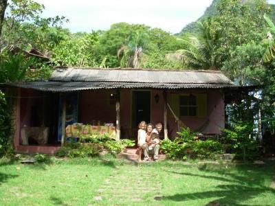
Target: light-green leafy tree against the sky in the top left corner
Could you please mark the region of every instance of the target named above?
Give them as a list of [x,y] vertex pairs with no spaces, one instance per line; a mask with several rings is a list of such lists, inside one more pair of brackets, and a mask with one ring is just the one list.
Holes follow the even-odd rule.
[[47,52],[63,39],[61,25],[67,19],[64,16],[41,18],[45,9],[43,4],[32,0],[12,0],[8,8],[3,24],[2,49],[17,45],[22,49],[36,48]]

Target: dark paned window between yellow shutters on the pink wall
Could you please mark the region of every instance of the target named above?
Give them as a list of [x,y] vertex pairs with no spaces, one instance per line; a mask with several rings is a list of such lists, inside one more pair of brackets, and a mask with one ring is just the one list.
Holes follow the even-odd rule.
[[179,96],[179,115],[180,116],[197,116],[197,97],[195,95]]

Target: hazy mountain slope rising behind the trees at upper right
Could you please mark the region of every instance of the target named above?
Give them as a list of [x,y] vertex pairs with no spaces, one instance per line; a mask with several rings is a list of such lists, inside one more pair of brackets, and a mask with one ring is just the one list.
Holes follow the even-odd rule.
[[[197,19],[197,21],[188,23],[188,25],[186,25],[181,30],[181,32],[179,32],[179,34],[176,34],[176,35],[181,36],[181,34],[184,34],[184,33],[197,33],[197,30],[198,30],[197,22],[207,18],[208,16],[214,16],[215,14],[217,14],[216,5],[217,5],[217,3],[219,3],[219,1],[221,1],[221,0],[213,0],[211,5],[208,8],[206,8],[206,11],[204,12],[204,14],[201,17],[199,17],[199,19]],[[245,3],[246,1],[249,1],[249,0],[243,0],[243,3]],[[272,11],[270,12],[269,16],[273,20],[273,22],[275,22],[275,5],[270,4],[270,7],[271,7]]]

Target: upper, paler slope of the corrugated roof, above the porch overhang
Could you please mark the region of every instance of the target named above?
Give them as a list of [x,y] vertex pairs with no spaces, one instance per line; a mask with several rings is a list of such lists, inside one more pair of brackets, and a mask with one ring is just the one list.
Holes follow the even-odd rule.
[[140,69],[57,69],[50,81],[233,84],[219,71],[161,71]]

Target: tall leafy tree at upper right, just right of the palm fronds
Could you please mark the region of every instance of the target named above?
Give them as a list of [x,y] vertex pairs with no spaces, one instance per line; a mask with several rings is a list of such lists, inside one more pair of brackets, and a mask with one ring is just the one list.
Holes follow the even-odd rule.
[[221,0],[212,31],[218,36],[215,54],[219,62],[232,58],[237,46],[262,41],[265,30],[263,14],[270,12],[265,0]]

